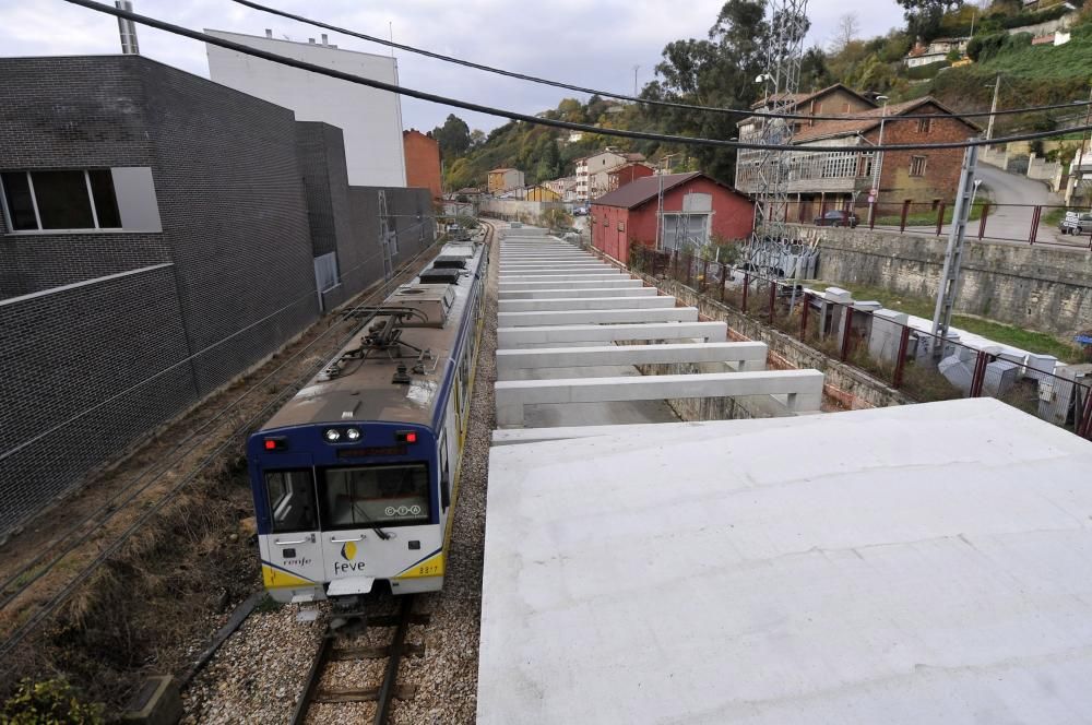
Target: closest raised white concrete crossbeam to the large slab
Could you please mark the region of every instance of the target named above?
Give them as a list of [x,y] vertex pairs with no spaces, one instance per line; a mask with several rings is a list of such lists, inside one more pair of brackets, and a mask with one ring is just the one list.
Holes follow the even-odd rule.
[[523,406],[548,403],[620,403],[669,397],[786,395],[794,413],[818,411],[822,401],[818,370],[710,372],[692,376],[501,380],[494,388],[497,425],[523,425]]

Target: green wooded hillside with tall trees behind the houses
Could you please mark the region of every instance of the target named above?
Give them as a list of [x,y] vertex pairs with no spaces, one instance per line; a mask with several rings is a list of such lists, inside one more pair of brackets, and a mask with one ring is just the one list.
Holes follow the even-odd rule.
[[[1049,2],[1051,0],[1041,0]],[[1079,0],[1078,0],[1079,1]],[[1088,0],[1072,27],[1072,39],[1063,46],[1032,46],[1031,35],[1006,31],[1056,20],[1069,5],[1057,2],[1030,12],[1021,0],[993,0],[985,10],[963,0],[899,0],[906,25],[873,38],[857,36],[859,22],[843,15],[827,48],[809,48],[800,71],[800,90],[812,91],[835,82],[860,93],[885,94],[891,103],[925,95],[936,96],[953,110],[989,108],[993,84],[1002,78],[1000,106],[1034,106],[1083,99],[1092,78],[1092,0]],[[774,43],[765,17],[767,0],[727,0],[709,33],[702,38],[668,43],[656,66],[655,78],[641,91],[643,98],[701,106],[747,108],[760,100],[764,49]],[[909,69],[904,58],[915,43],[941,36],[966,36],[976,61],[962,60],[952,51],[942,61]],[[563,98],[556,108],[539,114],[603,129],[627,129],[679,135],[731,139],[738,133],[738,117],[688,108],[663,108],[621,103],[592,96],[586,100]],[[1070,119],[1042,114],[998,117],[995,134],[1019,130],[1051,130]],[[512,121],[489,133],[470,130],[451,115],[432,131],[444,159],[448,189],[482,187],[489,169],[515,167],[529,185],[574,171],[574,161],[607,145],[622,152],[640,152],[658,163],[669,158],[673,170],[701,169],[732,183],[735,152],[728,148],[693,148],[630,141],[600,133],[570,134]]]

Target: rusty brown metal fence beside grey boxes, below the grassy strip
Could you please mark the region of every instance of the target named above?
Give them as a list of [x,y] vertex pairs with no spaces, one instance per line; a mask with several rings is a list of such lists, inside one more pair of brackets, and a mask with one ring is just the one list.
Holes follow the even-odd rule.
[[941,341],[904,323],[899,312],[832,300],[794,281],[768,278],[697,255],[634,247],[630,268],[679,282],[915,401],[989,395],[1092,439],[1092,378],[1079,378],[1073,369],[1056,371],[1048,356],[1018,356],[1000,346],[978,349],[954,335]]

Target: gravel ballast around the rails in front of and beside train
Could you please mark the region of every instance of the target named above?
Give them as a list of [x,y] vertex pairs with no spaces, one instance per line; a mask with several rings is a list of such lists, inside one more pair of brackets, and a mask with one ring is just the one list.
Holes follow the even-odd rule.
[[[486,284],[485,324],[471,400],[466,449],[460,473],[454,523],[443,591],[418,595],[415,613],[427,626],[412,627],[406,642],[425,645],[424,657],[405,657],[399,684],[416,686],[412,700],[395,700],[391,723],[405,725],[473,723],[477,709],[477,664],[482,614],[482,563],[490,436],[495,427],[494,382],[497,347],[495,270],[499,245],[492,238]],[[389,611],[390,597],[369,610]],[[311,623],[296,620],[297,606],[256,611],[183,692],[183,723],[286,723],[325,629],[325,613]],[[339,646],[387,643],[390,628],[346,637]],[[375,640],[375,641],[373,641]],[[379,661],[383,662],[383,661]],[[376,665],[337,663],[323,681],[340,687],[378,686]],[[363,680],[367,681],[363,681]],[[372,703],[313,705],[310,723],[349,723],[370,718]]]

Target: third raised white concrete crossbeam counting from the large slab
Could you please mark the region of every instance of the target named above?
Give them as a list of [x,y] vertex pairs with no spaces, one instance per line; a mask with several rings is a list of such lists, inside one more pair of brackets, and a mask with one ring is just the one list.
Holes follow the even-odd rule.
[[604,343],[622,340],[707,340],[723,343],[725,322],[660,322],[648,324],[569,324],[547,328],[498,328],[497,347],[545,343]]

